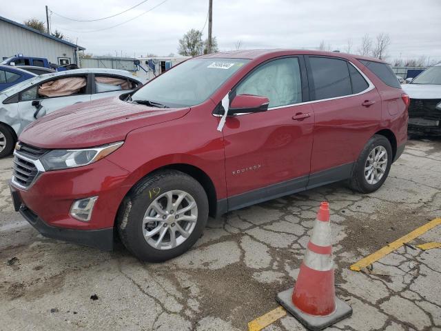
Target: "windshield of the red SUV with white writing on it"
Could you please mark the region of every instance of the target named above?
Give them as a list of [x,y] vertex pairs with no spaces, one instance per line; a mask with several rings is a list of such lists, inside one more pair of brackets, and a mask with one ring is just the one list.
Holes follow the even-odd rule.
[[185,61],[136,91],[132,101],[152,101],[167,107],[198,105],[247,62],[247,59]]

